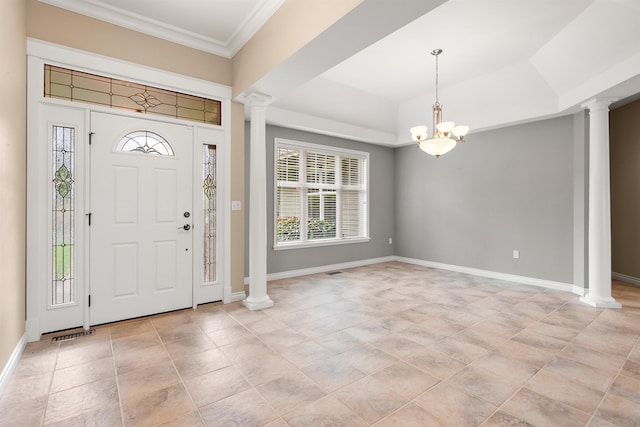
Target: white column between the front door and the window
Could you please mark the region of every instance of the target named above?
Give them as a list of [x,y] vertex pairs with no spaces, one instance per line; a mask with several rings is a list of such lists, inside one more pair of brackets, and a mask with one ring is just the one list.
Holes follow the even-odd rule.
[[250,310],[273,306],[267,295],[267,136],[265,110],[270,97],[247,97],[251,111],[249,171],[249,296],[242,303]]

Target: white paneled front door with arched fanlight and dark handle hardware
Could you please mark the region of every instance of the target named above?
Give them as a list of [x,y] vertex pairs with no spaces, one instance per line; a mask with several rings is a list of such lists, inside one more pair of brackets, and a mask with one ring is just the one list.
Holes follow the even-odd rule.
[[193,129],[91,113],[92,325],[193,305]]

